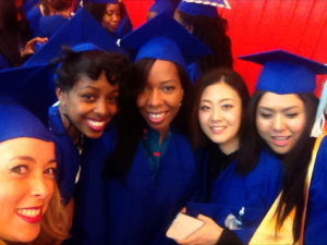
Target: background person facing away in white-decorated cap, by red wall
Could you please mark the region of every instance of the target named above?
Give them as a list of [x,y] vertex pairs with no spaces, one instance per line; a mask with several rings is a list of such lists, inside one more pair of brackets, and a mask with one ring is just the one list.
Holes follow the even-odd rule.
[[187,66],[193,83],[211,69],[232,69],[231,40],[227,35],[228,21],[220,16],[216,7],[181,1],[174,19],[213,51]]

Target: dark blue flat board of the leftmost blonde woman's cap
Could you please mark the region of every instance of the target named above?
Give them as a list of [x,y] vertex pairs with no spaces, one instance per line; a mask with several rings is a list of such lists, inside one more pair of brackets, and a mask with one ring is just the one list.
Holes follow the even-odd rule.
[[12,98],[48,125],[48,108],[57,100],[49,87],[51,78],[52,71],[46,64],[1,71],[0,96]]

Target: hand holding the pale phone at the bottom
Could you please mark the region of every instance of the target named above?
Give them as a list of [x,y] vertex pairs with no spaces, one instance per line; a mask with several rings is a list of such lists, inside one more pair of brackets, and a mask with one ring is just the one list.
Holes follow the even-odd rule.
[[186,238],[175,241],[178,244],[183,245],[213,245],[217,244],[223,231],[213,219],[209,217],[198,215],[197,219],[204,221],[204,225]]

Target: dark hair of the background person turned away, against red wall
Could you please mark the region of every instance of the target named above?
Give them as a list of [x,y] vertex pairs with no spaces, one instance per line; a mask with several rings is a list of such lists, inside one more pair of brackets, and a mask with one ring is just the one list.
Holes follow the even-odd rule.
[[193,26],[193,35],[205,44],[213,53],[198,59],[197,64],[202,73],[216,68],[233,66],[231,51],[231,40],[226,34],[228,30],[228,21],[218,14],[217,17],[207,17],[202,15],[191,15],[179,9],[183,25]]

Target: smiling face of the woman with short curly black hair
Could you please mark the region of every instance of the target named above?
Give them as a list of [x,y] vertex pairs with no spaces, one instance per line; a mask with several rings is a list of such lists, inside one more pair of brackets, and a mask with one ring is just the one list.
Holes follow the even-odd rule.
[[[117,112],[118,94],[119,86],[111,85],[105,72],[96,81],[82,75],[69,91],[57,88],[60,112],[72,123],[70,131],[77,132],[77,136],[82,133],[89,138],[102,135],[106,125]],[[70,122],[66,117],[61,118],[65,128],[69,128]],[[71,135],[71,132],[69,134]]]

